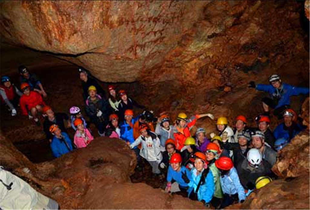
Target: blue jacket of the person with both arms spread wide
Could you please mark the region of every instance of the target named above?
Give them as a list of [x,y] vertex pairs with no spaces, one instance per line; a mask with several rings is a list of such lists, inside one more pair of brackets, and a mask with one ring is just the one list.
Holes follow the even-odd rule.
[[[296,96],[299,94],[309,94],[309,88],[299,88],[292,85],[282,83],[283,91],[280,91],[280,100],[276,109],[283,105],[290,105],[290,96]],[[271,84],[257,84],[257,90],[269,92],[272,97],[276,96],[277,89],[274,88]]]

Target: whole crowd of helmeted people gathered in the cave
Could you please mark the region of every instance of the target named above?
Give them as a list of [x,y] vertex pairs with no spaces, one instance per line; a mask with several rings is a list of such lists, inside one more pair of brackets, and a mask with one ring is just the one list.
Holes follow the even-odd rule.
[[[249,83],[249,88],[270,93],[270,97],[262,99],[264,113],[255,118],[257,127],[248,127],[246,116],[239,115],[232,128],[228,126],[227,118],[221,116],[217,118],[217,133],[210,133],[208,139],[203,127],[198,128],[194,136],[190,131],[198,119],[214,119],[212,114],[189,118],[187,114],[179,113],[173,122],[164,112],[156,118],[153,111],[139,105],[125,90],[116,91],[109,85],[106,97],[88,71],[80,67],[78,72],[85,111],[98,134],[124,140],[136,154],[137,167],[144,158],[151,165],[154,176],[164,175],[167,193],[184,192],[207,207],[212,205],[220,209],[242,203],[251,191],[276,178],[271,168],[277,160],[277,151],[303,130],[290,108],[290,96],[309,94],[309,88],[282,83],[279,75],[271,75],[269,84]],[[1,102],[7,105],[12,116],[17,114],[19,105],[21,114],[33,119],[38,126],[38,117],[44,116],[43,130],[55,157],[87,147],[94,140],[93,131],[79,106],[68,109],[70,116],[55,113],[43,101],[47,94],[38,77],[25,66],[20,66],[19,73],[20,90],[11,84],[8,76],[1,77]],[[134,107],[145,110],[134,116]],[[274,116],[284,121],[273,132],[269,128],[270,108],[274,109]],[[74,129],[73,141],[67,129]]]

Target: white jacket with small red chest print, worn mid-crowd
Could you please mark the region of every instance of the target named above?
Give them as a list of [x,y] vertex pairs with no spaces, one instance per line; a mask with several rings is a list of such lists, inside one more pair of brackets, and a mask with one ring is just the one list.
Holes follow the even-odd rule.
[[130,148],[132,149],[141,143],[140,156],[144,157],[147,161],[157,161],[160,163],[162,161],[162,153],[160,152],[159,138],[154,132],[149,132],[150,136],[148,138],[139,135],[130,145]]

